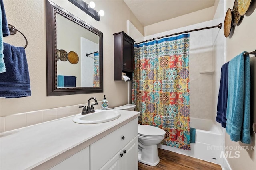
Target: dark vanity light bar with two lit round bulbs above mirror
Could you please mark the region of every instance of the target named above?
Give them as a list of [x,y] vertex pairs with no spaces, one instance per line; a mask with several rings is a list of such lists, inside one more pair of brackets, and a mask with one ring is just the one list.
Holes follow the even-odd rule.
[[75,6],[77,6],[78,8],[80,8],[82,11],[84,11],[86,14],[88,14],[89,16],[91,16],[97,21],[100,21],[100,16],[104,16],[105,14],[103,10],[100,10],[99,12],[97,12],[96,10],[93,9],[95,7],[95,3],[92,1],[89,4],[84,2],[84,0],[68,0],[68,1],[74,4]]

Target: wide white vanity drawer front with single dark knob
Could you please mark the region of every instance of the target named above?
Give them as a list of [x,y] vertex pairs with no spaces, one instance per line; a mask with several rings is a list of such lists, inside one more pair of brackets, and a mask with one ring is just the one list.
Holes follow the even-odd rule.
[[92,169],[100,169],[136,135],[138,135],[138,118],[93,143]]

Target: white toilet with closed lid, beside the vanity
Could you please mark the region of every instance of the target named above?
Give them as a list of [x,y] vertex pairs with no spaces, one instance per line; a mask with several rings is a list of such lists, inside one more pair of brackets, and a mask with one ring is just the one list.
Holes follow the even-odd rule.
[[[124,105],[114,109],[134,111],[136,105]],[[138,125],[138,160],[143,164],[156,166],[159,163],[157,144],[164,139],[165,131],[150,125]]]

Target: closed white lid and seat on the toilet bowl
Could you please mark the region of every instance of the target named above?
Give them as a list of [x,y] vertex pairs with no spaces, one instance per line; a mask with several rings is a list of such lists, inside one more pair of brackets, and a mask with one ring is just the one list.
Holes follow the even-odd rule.
[[144,137],[160,137],[165,135],[165,131],[159,127],[150,125],[138,125],[138,135]]

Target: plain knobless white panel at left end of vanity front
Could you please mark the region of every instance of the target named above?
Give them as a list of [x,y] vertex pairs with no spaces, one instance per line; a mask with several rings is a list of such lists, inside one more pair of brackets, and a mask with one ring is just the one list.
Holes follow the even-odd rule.
[[89,147],[77,152],[66,160],[60,162],[50,170],[89,170],[90,155]]

